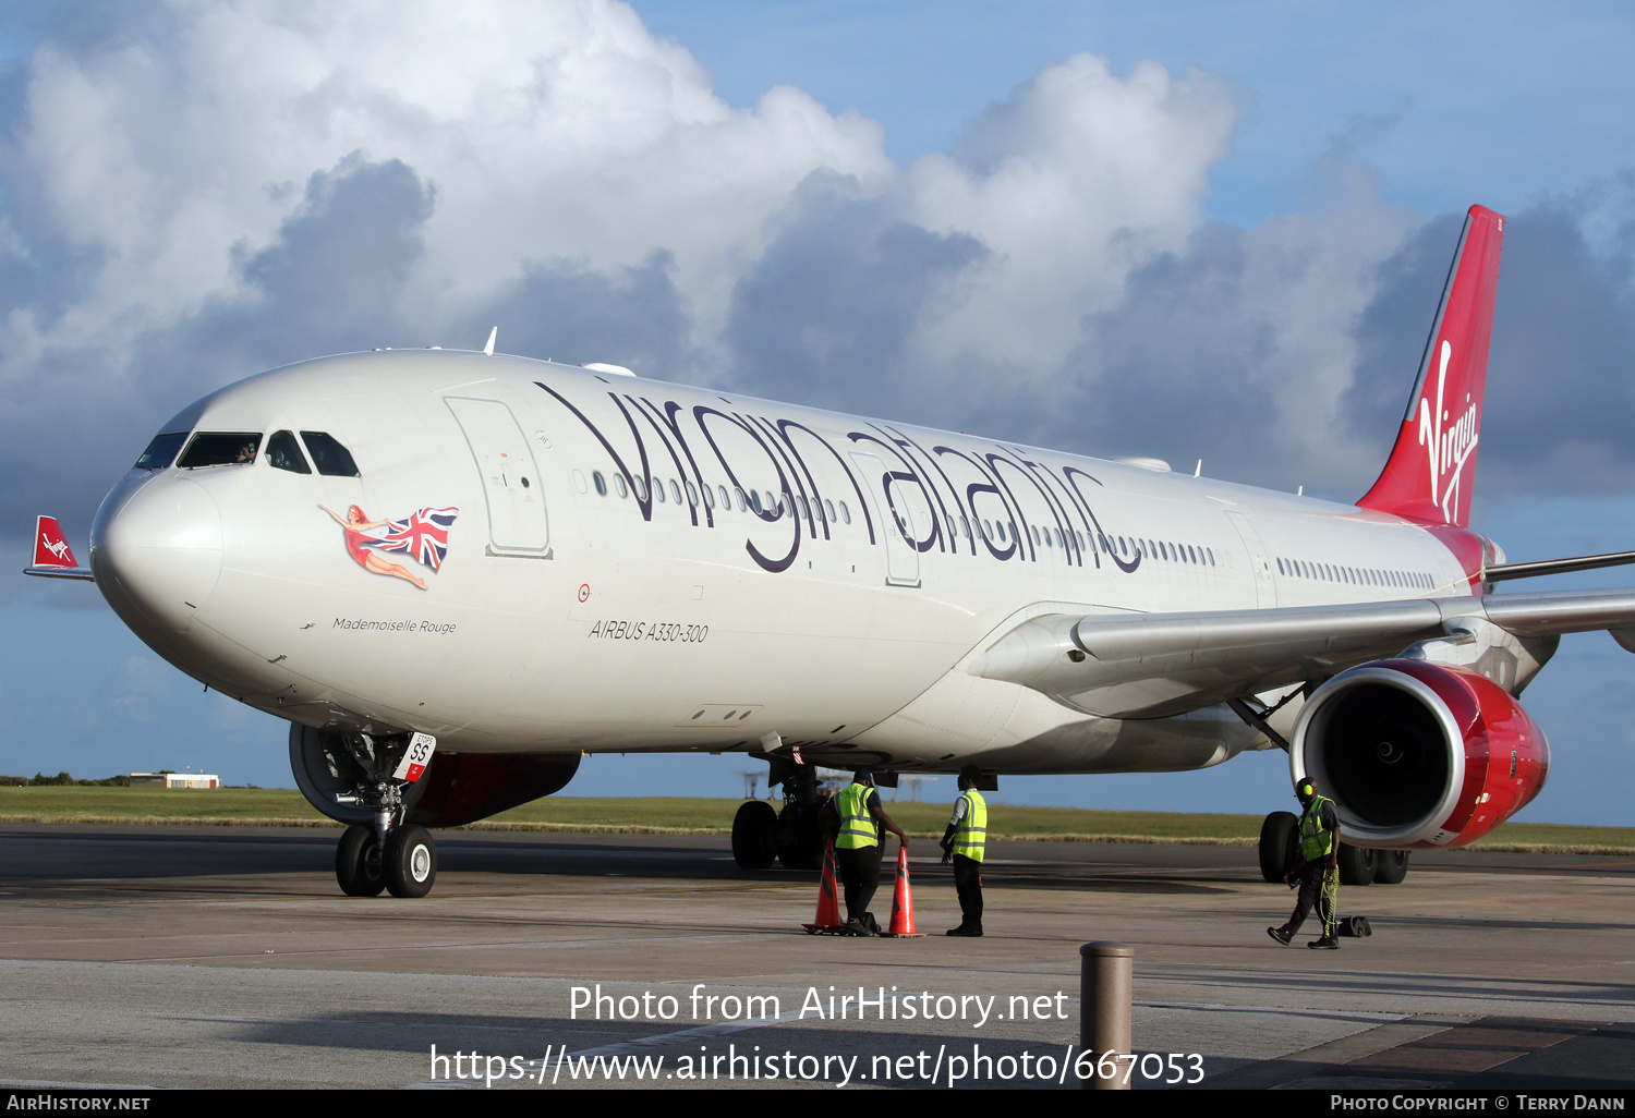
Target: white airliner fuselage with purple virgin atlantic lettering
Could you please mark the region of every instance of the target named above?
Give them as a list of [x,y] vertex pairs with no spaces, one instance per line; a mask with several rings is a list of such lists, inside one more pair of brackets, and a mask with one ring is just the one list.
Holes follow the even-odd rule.
[[[173,461],[93,528],[119,616],[244,703],[455,752],[777,736],[894,768],[1197,768],[1267,739],[1220,706],[1094,718],[966,669],[1045,613],[1473,592],[1378,512],[502,355],[306,361],[164,432]],[[250,459],[186,466],[199,433],[253,436]],[[325,472],[319,433],[356,476]]]

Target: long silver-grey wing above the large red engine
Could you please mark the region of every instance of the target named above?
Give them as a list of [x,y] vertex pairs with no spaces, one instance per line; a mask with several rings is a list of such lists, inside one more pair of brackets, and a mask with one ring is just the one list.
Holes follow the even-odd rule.
[[1087,714],[1161,718],[1319,680],[1429,639],[1609,629],[1635,652],[1635,590],[1566,590],[1212,613],[1051,613],[970,665]]

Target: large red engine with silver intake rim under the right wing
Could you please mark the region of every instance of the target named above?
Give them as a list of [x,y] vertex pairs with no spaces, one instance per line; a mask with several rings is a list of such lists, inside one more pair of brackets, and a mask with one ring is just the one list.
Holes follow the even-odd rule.
[[1550,744],[1493,680],[1424,660],[1341,672],[1306,701],[1290,742],[1298,781],[1334,801],[1359,847],[1460,847],[1521,811]]

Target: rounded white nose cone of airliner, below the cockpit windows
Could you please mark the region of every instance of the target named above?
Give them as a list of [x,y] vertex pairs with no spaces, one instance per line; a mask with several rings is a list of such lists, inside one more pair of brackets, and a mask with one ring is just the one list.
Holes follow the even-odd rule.
[[221,544],[209,492],[186,477],[155,477],[96,515],[92,572],[118,613],[129,605],[152,624],[186,631],[221,577]]

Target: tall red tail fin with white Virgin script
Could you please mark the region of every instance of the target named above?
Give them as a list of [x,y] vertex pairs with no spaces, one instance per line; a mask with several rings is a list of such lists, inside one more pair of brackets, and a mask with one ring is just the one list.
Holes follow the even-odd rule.
[[1470,526],[1503,240],[1504,217],[1472,206],[1396,446],[1359,507],[1427,525]]

